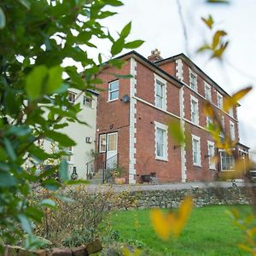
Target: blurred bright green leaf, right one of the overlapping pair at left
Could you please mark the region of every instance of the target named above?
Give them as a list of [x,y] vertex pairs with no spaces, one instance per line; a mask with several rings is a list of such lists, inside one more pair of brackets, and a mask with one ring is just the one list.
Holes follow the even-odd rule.
[[62,84],[62,68],[59,66],[51,67],[49,69],[49,79],[45,86],[45,93],[52,94],[55,90],[61,88]]

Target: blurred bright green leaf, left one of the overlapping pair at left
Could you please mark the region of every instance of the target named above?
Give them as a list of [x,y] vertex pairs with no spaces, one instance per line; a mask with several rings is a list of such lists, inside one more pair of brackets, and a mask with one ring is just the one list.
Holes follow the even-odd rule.
[[42,88],[47,79],[48,69],[41,65],[34,67],[31,73],[26,78],[26,92],[32,100],[42,96]]

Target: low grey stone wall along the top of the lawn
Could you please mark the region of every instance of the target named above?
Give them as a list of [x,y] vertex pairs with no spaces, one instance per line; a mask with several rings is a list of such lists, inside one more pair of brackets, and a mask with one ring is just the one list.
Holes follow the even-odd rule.
[[143,190],[129,194],[130,200],[136,201],[137,208],[176,208],[186,195],[193,197],[195,207],[250,204],[245,187]]

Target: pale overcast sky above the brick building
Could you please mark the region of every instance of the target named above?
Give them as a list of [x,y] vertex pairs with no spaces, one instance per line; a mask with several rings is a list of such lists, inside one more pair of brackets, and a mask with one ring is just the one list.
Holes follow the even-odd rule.
[[[177,0],[124,0],[115,9],[119,14],[104,21],[111,32],[120,31],[132,21],[129,39],[145,40],[137,52],[147,57],[152,49],[160,49],[163,58],[185,53],[203,71],[230,94],[256,81],[256,0],[230,0],[230,5],[206,4],[203,0],[180,0],[188,31],[186,51],[183,28],[178,15]],[[195,53],[210,34],[201,16],[211,14],[217,28],[228,32],[230,39],[223,64],[209,61],[207,55]],[[109,45],[100,44],[108,55]],[[126,50],[127,51],[127,50]],[[124,51],[123,53],[125,53]],[[256,90],[240,101],[238,110],[241,143],[256,152]],[[253,155],[252,155],[253,156]],[[256,158],[256,154],[253,157]]]

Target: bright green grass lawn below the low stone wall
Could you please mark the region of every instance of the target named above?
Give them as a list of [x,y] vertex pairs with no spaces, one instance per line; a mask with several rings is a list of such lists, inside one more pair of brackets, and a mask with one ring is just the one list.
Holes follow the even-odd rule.
[[[249,212],[250,207],[237,207]],[[229,207],[195,208],[182,235],[176,240],[161,241],[149,220],[150,210],[113,212],[110,224],[118,241],[148,250],[147,255],[248,255],[236,244],[244,236],[227,214]]]

